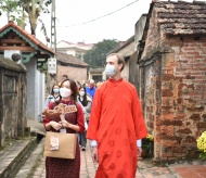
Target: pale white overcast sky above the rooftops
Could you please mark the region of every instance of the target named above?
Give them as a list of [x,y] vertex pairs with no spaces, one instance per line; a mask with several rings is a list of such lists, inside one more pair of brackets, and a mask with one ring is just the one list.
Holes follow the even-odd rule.
[[[56,38],[69,42],[96,43],[103,39],[127,40],[134,34],[134,24],[147,13],[152,0],[55,0]],[[121,10],[120,10],[121,9]],[[119,10],[119,11],[118,11]],[[115,12],[118,11],[118,12]],[[115,13],[113,13],[115,12]],[[113,13],[111,15],[107,15]],[[104,16],[107,15],[107,16]],[[104,17],[101,17],[104,16]],[[87,23],[91,20],[96,21]],[[7,24],[5,17],[1,25]],[[51,15],[41,14],[50,37]],[[86,24],[83,24],[86,23]],[[82,25],[77,25],[82,24]],[[44,40],[37,29],[37,38]],[[29,27],[26,28],[30,33]]]

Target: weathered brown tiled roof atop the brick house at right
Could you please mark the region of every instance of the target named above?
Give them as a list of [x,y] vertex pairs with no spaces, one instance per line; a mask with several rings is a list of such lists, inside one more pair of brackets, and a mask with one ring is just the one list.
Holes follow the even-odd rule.
[[165,34],[206,34],[205,2],[154,2],[153,8]]

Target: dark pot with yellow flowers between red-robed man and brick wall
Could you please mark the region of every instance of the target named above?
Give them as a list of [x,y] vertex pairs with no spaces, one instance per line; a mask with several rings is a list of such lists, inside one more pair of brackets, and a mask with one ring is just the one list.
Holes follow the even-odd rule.
[[141,157],[153,156],[154,152],[154,138],[152,135],[147,135],[147,137],[142,139],[142,154]]

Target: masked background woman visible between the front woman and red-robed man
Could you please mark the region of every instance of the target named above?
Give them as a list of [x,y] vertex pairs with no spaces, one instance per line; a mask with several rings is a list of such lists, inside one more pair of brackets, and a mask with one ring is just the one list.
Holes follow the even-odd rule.
[[79,96],[77,97],[78,101],[82,104],[82,106],[85,107],[85,127],[86,130],[82,134],[78,134],[79,137],[79,144],[81,145],[81,150],[85,151],[86,150],[86,145],[87,145],[87,127],[88,127],[88,123],[89,123],[89,115],[90,115],[90,110],[91,110],[91,102],[92,99],[91,97],[89,97],[86,92],[86,88],[80,86],[79,87]]

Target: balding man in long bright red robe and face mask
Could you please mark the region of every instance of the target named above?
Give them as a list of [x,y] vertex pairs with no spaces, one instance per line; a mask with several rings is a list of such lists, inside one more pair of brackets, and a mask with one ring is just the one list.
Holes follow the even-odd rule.
[[[95,178],[134,178],[137,140],[147,136],[133,85],[121,78],[124,56],[106,58],[110,77],[96,89],[87,138],[92,140],[92,157],[99,162]],[[141,147],[138,147],[141,154]]]

